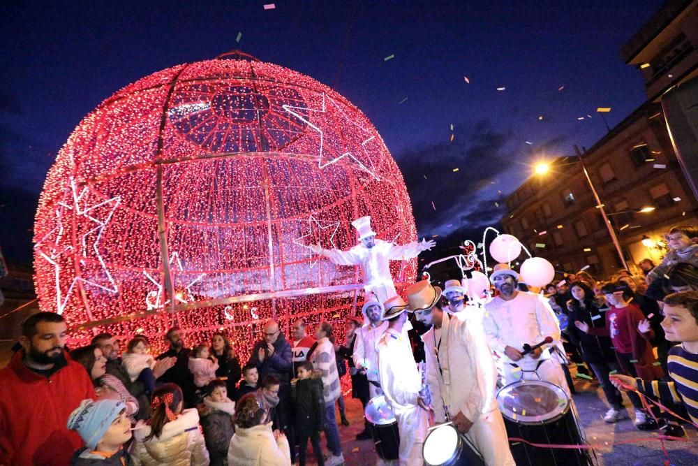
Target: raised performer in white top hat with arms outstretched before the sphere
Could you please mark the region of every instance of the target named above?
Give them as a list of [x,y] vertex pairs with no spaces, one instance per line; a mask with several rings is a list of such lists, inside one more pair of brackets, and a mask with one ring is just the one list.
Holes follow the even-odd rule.
[[359,233],[360,245],[348,251],[323,249],[320,245],[310,246],[310,249],[338,265],[360,265],[364,271],[366,296],[368,297],[372,291],[381,303],[397,294],[390,275],[390,261],[413,259],[420,252],[436,245],[433,241],[422,240],[398,246],[392,242],[377,240],[376,232],[371,230],[371,217],[368,216],[356,219],[351,224]]

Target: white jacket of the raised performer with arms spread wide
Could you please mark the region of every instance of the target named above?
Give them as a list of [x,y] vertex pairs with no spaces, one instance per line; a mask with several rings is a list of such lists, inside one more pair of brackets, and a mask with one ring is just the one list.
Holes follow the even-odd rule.
[[390,261],[413,259],[424,250],[422,243],[410,242],[398,246],[376,239],[371,249],[356,245],[348,251],[322,249],[322,255],[338,265],[360,265],[364,273],[364,290],[375,291],[380,303],[395,296],[395,286],[390,275]]

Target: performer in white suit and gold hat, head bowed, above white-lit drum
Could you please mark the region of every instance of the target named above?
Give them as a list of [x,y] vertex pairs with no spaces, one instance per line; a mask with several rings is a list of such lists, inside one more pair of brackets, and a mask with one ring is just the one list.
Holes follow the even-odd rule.
[[[514,466],[495,394],[497,369],[481,330],[463,313],[436,301],[438,287],[418,282],[406,290],[408,310],[429,330],[422,335],[436,423],[452,421],[489,466]],[[443,307],[442,307],[443,306]]]

